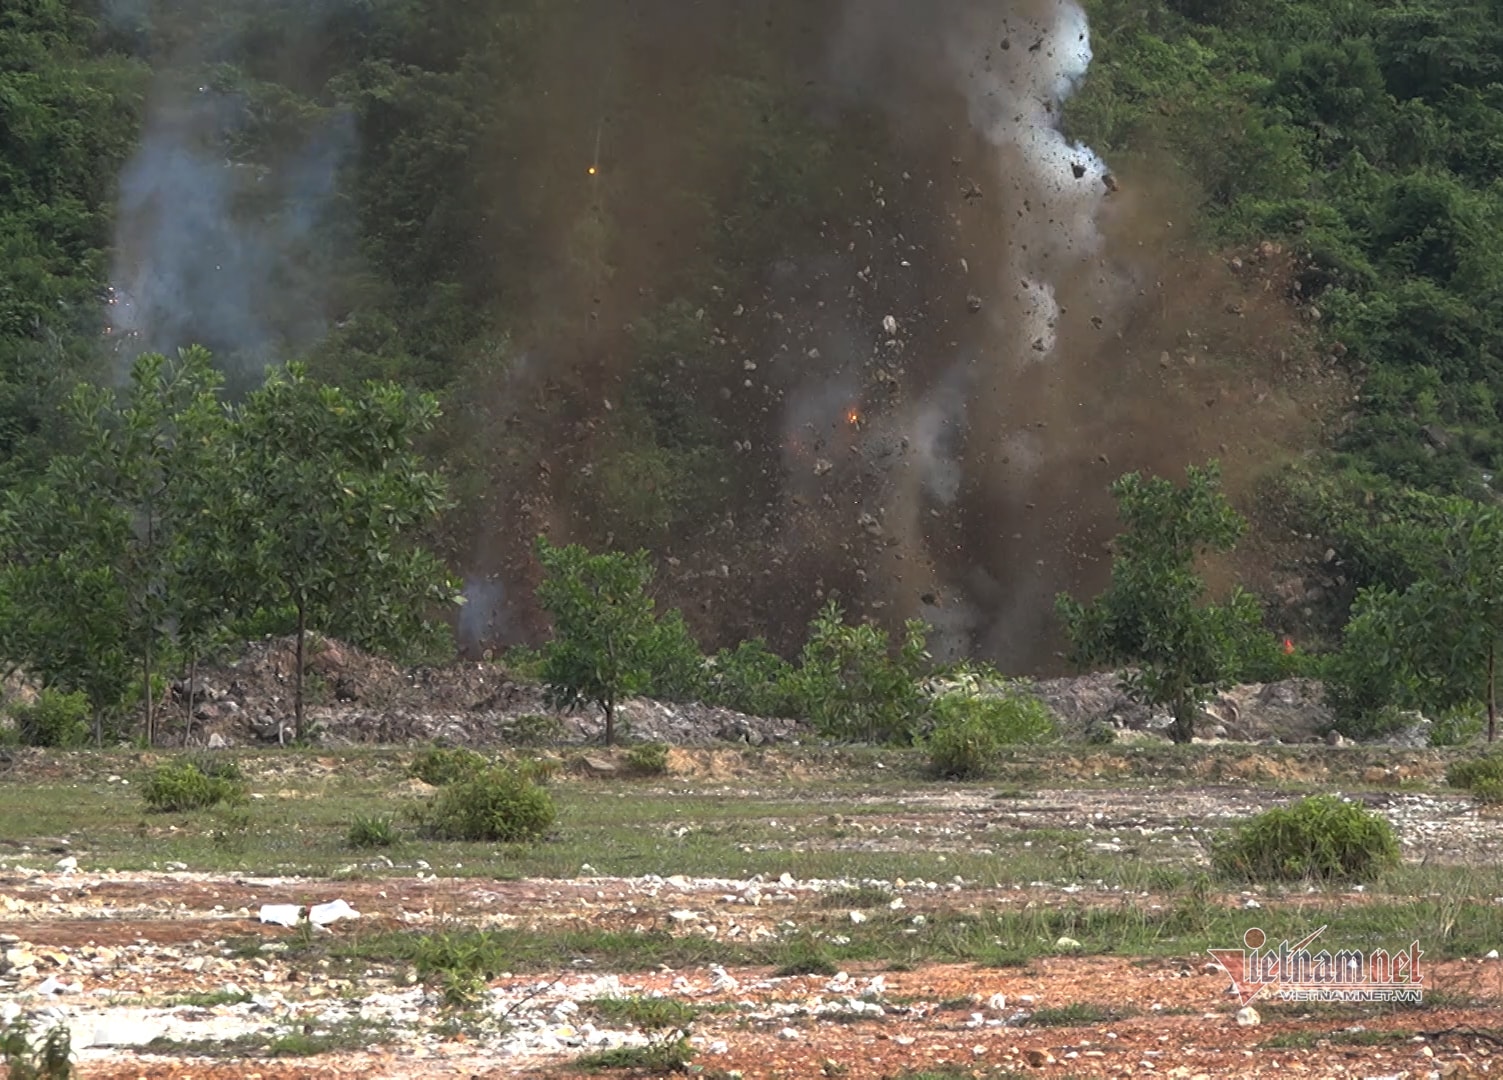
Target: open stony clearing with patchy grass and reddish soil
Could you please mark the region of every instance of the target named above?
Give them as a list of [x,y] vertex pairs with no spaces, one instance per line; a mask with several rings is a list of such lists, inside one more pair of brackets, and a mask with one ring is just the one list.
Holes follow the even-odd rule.
[[[523,753],[523,751],[511,751]],[[1503,817],[1447,753],[1019,751],[987,783],[912,753],[544,751],[556,835],[421,840],[412,750],[225,750],[239,805],[147,813],[167,756],[15,753],[0,780],[0,1011],[66,1023],[84,1077],[1465,1077],[1500,1050]],[[1207,876],[1216,829],[1312,790],[1384,813],[1365,889]],[[352,849],[386,816],[391,847]],[[329,927],[263,904],[344,900]],[[1423,949],[1425,1002],[1240,1002],[1207,948],[1327,925]],[[1492,958],[1488,958],[1491,954]],[[676,1042],[678,1032],[688,1044]],[[691,1056],[690,1053],[691,1051]]]

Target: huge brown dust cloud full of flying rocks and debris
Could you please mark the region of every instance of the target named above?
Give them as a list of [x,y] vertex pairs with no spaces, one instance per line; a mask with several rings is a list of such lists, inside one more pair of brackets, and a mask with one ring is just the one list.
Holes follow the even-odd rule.
[[522,430],[549,395],[576,406],[567,428],[534,430],[552,452],[523,452],[476,527],[479,572],[508,580],[513,638],[541,623],[525,601],[535,568],[505,538],[619,542],[574,481],[615,454],[612,397],[633,376],[618,327],[685,287],[679,255],[705,222],[673,192],[717,191],[745,164],[687,149],[679,95],[730,63],[748,27],[797,72],[810,116],[879,125],[890,161],[852,162],[843,219],[821,224],[813,251],[774,254],[759,288],[702,312],[729,371],[664,380],[739,466],[723,478],[735,488],[724,514],[654,545],[660,599],[708,644],[765,635],[789,650],[833,596],[893,629],[923,619],[936,655],[1057,671],[1054,596],[1105,584],[1112,479],[1217,457],[1246,494],[1308,437],[1285,379],[1297,327],[1276,282],[1252,264],[1234,273],[1187,236],[1177,221],[1195,192],[1166,159],[1114,170],[1061,132],[1090,77],[1075,3],[624,11],[588,54],[630,108],[601,113],[562,90],[574,122],[544,155],[583,171],[579,147],[600,143],[609,116],[603,183],[576,177],[573,200],[549,200],[550,288],[534,297],[538,324],[583,329],[538,333],[528,374],[513,368],[490,391],[531,403],[499,406]]

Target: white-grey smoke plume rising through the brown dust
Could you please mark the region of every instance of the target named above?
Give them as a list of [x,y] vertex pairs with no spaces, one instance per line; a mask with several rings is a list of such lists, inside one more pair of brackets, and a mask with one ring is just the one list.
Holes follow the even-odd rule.
[[[893,418],[909,454],[881,496],[882,521],[902,541],[884,578],[905,614],[935,628],[938,655],[1027,653],[1018,638],[1048,629],[1057,580],[1030,556],[1051,541],[1025,536],[1019,518],[1076,451],[1031,421],[1055,392],[1055,368],[1081,361],[1084,317],[1067,306],[1103,312],[1121,293],[1102,260],[1109,170],[1060,129],[1090,62],[1073,0],[852,0],[846,9],[834,71],[849,96],[879,101],[915,141],[948,114],[984,147],[965,164],[974,174],[957,192],[956,248],[984,282],[986,333],[956,350],[965,356],[929,357],[942,374]],[[983,201],[984,213],[966,216]],[[965,518],[984,521],[972,541],[984,550],[956,539]]]

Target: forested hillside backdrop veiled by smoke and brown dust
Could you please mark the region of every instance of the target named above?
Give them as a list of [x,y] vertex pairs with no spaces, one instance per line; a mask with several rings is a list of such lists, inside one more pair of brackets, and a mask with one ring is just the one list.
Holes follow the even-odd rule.
[[1494,500],[1498,65],[1483,0],[17,0],[0,479],[138,353],[304,361],[442,401],[463,647],[546,532],[706,644],[1046,671],[1111,481],[1220,458],[1217,578],[1329,643]]

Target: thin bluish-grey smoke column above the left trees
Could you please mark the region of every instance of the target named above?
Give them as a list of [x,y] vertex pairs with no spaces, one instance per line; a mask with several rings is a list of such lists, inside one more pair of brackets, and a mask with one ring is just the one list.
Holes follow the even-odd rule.
[[[188,20],[195,33],[153,57],[141,141],[119,182],[110,323],[122,364],[204,344],[259,371],[326,330],[329,227],[355,125],[331,111],[290,138],[287,128],[269,135],[254,84],[210,68],[263,6]],[[108,14],[150,48],[140,3]],[[310,12],[292,30],[316,33]]]

